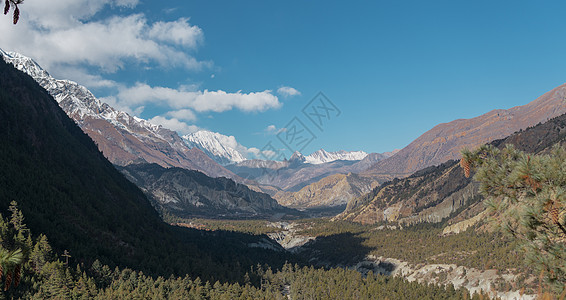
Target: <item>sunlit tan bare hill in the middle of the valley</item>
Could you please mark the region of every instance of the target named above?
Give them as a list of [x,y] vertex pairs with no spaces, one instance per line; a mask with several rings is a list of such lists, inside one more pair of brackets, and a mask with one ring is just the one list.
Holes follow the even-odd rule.
[[273,196],[279,204],[305,209],[346,205],[378,185],[371,177],[354,173],[334,174],[311,183],[297,192],[280,191]]

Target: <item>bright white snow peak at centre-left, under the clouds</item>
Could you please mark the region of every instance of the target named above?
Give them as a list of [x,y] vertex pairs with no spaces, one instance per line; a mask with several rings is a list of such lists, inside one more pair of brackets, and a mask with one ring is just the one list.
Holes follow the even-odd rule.
[[184,135],[183,140],[189,147],[201,149],[206,155],[221,165],[239,163],[246,160],[245,155],[240,152],[245,151],[244,147],[238,144],[233,136],[201,130]]

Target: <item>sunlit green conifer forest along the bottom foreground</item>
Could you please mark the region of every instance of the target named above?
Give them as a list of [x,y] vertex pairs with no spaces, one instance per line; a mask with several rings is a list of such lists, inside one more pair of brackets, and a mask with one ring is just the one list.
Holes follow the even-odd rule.
[[[9,210],[9,218],[0,216],[3,299],[470,299],[467,290],[451,285],[290,263],[275,271],[267,265],[251,267],[241,283],[150,276],[112,269],[98,260],[84,265],[67,251],[54,251],[45,235],[33,235],[15,202]],[[475,294],[472,299],[483,297]]]

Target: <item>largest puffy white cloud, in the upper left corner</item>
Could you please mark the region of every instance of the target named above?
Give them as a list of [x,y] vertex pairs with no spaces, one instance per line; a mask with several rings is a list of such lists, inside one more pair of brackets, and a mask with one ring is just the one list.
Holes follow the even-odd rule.
[[[115,72],[131,62],[197,70],[211,66],[186,51],[202,44],[204,34],[199,27],[189,24],[187,18],[150,22],[143,14],[127,14],[138,2],[26,1],[17,26],[10,24],[11,18],[0,18],[0,45],[33,57],[63,78],[72,78],[77,73],[73,68],[82,68],[83,73],[84,67]],[[107,7],[121,8],[121,14],[109,11],[108,17],[93,19]],[[87,78],[80,83],[92,81]]]

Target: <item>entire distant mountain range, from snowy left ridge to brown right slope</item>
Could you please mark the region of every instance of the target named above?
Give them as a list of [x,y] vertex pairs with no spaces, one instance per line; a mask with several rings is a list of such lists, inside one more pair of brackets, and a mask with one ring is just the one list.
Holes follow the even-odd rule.
[[265,161],[248,159],[248,148],[233,136],[198,131],[180,137],[100,102],[75,82],[54,79],[30,58],[2,50],[0,54],[43,86],[112,163],[156,163],[227,177],[296,208],[344,205],[357,199],[348,206],[351,210],[377,184],[458,158],[463,147],[474,148],[566,113],[566,87],[562,85],[527,105],[439,124],[401,150],[368,154],[320,149],[307,156],[296,152],[288,160]]

